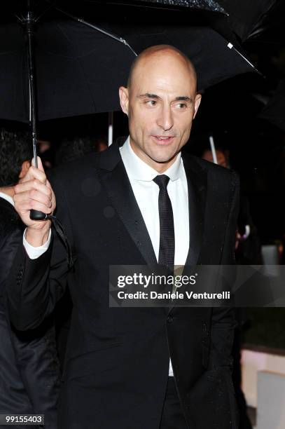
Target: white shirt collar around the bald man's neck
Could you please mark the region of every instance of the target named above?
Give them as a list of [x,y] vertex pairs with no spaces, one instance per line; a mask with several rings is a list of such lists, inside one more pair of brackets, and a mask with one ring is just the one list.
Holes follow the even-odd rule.
[[[146,182],[151,182],[158,173],[154,168],[151,168],[148,164],[137,156],[132,150],[130,145],[130,136],[127,137],[127,140],[123,144],[123,147],[120,147],[120,155],[123,159],[123,163],[127,170],[127,175],[134,180],[144,180]],[[181,153],[176,157],[176,160],[170,167],[163,172],[163,175],[167,175],[170,180],[174,181],[179,179],[183,173],[183,161],[181,158]]]

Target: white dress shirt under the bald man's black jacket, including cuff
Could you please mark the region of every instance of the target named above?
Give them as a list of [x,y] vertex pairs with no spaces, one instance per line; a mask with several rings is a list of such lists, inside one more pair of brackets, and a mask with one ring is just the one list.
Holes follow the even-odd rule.
[[[160,173],[134,154],[130,145],[130,137],[127,138],[123,147],[120,147],[120,155],[125,165],[127,176],[130,179],[132,191],[139,205],[139,210],[141,210],[142,217],[144,218],[146,229],[151,238],[156,259],[158,260],[160,247],[159,187],[153,182],[153,179]],[[184,266],[189,248],[189,210],[187,179],[180,153],[174,163],[162,174],[167,175],[170,179],[167,191],[172,203],[174,218],[174,264]],[[33,247],[27,243],[24,234],[24,246],[31,259],[36,259],[43,252],[46,252],[49,244],[50,236],[44,245]],[[169,376],[173,376],[171,360],[169,360]]]

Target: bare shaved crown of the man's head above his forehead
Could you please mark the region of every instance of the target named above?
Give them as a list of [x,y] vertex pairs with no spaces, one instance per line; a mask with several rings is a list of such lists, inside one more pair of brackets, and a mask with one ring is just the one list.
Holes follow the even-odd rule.
[[137,72],[146,68],[151,62],[157,60],[165,60],[168,62],[175,62],[189,73],[189,79],[193,81],[195,90],[197,88],[197,75],[193,63],[189,58],[181,52],[181,50],[174,48],[170,45],[156,45],[143,50],[132,62],[129,77],[127,80],[127,88],[130,90],[134,79],[137,77]]

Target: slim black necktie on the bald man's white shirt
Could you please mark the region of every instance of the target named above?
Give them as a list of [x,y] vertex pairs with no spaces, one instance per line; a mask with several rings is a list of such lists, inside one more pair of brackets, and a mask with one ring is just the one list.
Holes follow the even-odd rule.
[[160,250],[158,264],[174,268],[175,236],[172,204],[167,192],[169,177],[166,175],[156,176],[153,179],[159,188],[158,210],[160,214]]

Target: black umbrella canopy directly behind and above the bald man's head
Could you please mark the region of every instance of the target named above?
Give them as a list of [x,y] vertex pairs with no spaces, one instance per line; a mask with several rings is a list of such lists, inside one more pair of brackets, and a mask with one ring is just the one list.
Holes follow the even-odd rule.
[[[102,15],[96,24],[123,36],[137,53],[160,43],[181,49],[195,64],[199,89],[253,70],[217,32],[210,27],[189,27],[181,22],[181,13],[174,16],[164,11],[168,18],[165,13],[140,13],[134,19],[126,9],[120,16],[117,12],[118,8],[119,25],[109,17],[103,20]],[[118,87],[126,83],[135,58],[130,48],[80,22],[54,19],[51,13],[37,25],[34,39],[39,120],[119,109]],[[3,24],[1,118],[29,121],[27,75],[22,28],[16,22]]]

